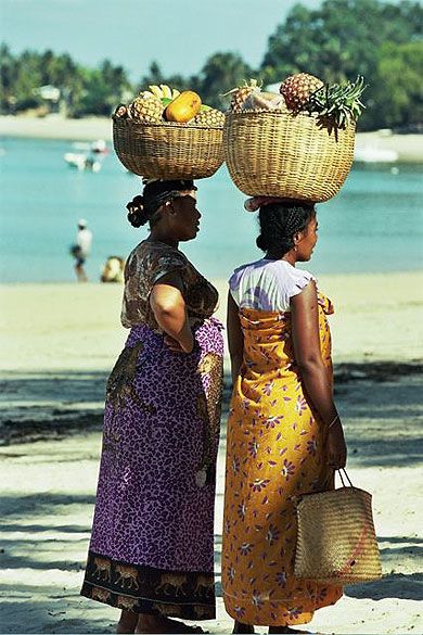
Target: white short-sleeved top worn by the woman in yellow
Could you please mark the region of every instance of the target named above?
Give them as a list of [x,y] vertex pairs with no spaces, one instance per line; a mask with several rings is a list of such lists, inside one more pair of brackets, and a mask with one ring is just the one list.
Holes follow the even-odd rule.
[[290,300],[316,278],[286,261],[261,258],[242,265],[229,279],[231,295],[240,308],[291,310]]

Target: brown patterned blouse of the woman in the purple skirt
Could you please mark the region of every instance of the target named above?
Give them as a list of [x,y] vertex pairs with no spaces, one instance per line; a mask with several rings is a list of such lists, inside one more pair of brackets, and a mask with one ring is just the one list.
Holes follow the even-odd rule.
[[166,274],[178,272],[191,326],[211,317],[218,302],[217,289],[190,263],[182,252],[159,241],[142,241],[129,254],[125,266],[121,323],[127,329],[148,325],[162,333],[150,306],[150,292]]

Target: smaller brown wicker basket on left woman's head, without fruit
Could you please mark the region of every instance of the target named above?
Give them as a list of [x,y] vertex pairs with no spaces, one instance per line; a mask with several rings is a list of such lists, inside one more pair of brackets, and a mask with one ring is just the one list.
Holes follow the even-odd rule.
[[203,179],[223,163],[218,127],[115,118],[113,144],[127,169],[148,178]]

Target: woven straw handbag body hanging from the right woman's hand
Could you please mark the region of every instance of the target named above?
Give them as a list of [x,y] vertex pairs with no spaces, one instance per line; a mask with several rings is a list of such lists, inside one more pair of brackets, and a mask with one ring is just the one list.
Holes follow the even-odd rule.
[[372,497],[357,487],[307,494],[297,505],[295,575],[324,584],[382,576]]

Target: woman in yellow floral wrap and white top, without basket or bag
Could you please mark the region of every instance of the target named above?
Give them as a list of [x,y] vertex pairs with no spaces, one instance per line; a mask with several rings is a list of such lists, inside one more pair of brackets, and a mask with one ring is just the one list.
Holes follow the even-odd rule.
[[227,434],[222,544],[225,606],[234,633],[295,633],[342,587],[294,576],[298,494],[331,490],[346,447],[333,402],[331,302],[308,271],[312,205],[257,198],[266,253],[230,279],[233,394]]

